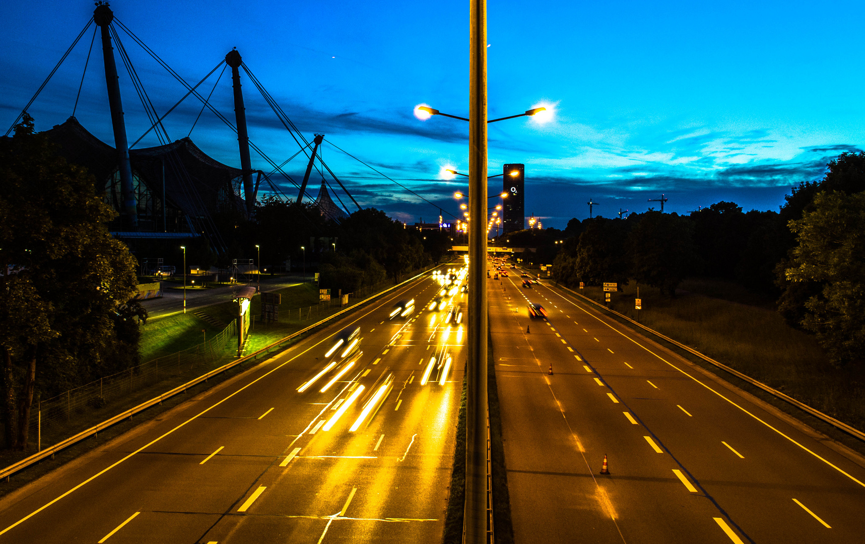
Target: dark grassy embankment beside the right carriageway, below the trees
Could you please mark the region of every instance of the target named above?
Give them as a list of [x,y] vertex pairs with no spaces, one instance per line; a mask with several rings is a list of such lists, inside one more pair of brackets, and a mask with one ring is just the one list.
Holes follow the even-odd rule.
[[[600,287],[575,291],[604,301]],[[610,308],[850,426],[865,429],[865,370],[831,365],[816,338],[789,327],[772,299],[731,282],[702,278],[682,282],[675,299],[644,285],[639,287],[639,294],[642,310],[634,309],[634,282],[625,286],[624,292],[612,293]],[[810,418],[694,355],[679,349],[676,352],[725,379],[732,378],[736,385],[800,419]],[[819,419],[809,419],[808,423],[823,432],[832,431]],[[862,450],[862,444],[856,449]]]

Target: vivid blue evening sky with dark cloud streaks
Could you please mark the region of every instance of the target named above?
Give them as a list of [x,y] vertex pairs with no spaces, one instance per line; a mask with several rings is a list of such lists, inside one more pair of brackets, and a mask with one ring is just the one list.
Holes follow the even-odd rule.
[[[604,4],[604,5],[599,5]],[[792,185],[823,176],[843,150],[865,148],[865,3],[495,2],[489,14],[490,117],[553,106],[539,125],[490,125],[490,174],[526,164],[526,213],[564,227],[619,208],[644,211],[661,193],[684,213],[719,200],[778,209]],[[292,121],[324,132],[437,205],[457,213],[445,165],[468,170],[467,125],[413,107],[468,113],[468,3],[117,0],[120,21],[190,83],[237,47]],[[0,125],[8,127],[93,12],[92,2],[3,3]],[[37,128],[72,112],[92,32],[30,107]],[[185,91],[121,34],[158,112]],[[99,37],[76,117],[113,144]],[[150,125],[122,64],[127,132]],[[202,88],[207,92],[212,76]],[[213,103],[234,119],[230,74]],[[277,162],[298,147],[245,79],[249,133]],[[166,119],[189,132],[201,104]],[[239,166],[234,135],[205,112],[191,138]],[[151,136],[138,146],[157,144]],[[324,145],[324,160],[363,206],[403,221],[438,214],[397,185]],[[266,169],[253,152],[253,168]],[[290,163],[303,176],[304,163]],[[311,180],[314,185],[320,178]],[[490,185],[490,189],[497,189]],[[343,199],[347,204],[350,202]],[[350,210],[351,208],[349,208]]]

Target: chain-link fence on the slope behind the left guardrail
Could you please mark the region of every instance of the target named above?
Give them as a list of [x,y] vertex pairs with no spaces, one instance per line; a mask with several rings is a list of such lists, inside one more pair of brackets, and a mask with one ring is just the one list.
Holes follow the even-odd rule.
[[37,447],[41,448],[44,433],[57,427],[68,432],[69,427],[75,426],[74,419],[81,419],[83,414],[93,413],[115,400],[129,398],[154,384],[164,382],[170,389],[189,381],[190,376],[216,368],[236,353],[236,328],[233,321],[207,342],[40,400],[30,418],[30,437],[35,438]]

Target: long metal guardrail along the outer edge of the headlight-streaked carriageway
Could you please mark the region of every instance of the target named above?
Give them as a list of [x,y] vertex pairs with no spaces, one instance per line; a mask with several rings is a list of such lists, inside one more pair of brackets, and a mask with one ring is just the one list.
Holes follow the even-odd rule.
[[259,349],[258,351],[255,351],[254,353],[251,353],[249,355],[244,355],[243,357],[235,359],[234,361],[229,362],[227,364],[224,364],[219,368],[214,368],[213,370],[211,370],[207,374],[202,374],[201,376],[198,376],[194,380],[187,381],[183,385],[180,385],[180,386],[175,387],[174,389],[171,389],[168,393],[163,393],[163,394],[159,395],[158,397],[152,398],[151,400],[146,400],[146,401],[142,402],[141,404],[139,404],[138,406],[132,407],[123,413],[119,413],[118,415],[112,417],[111,419],[106,419],[105,421],[98,423],[97,425],[92,426],[89,429],[86,429],[85,431],[81,431],[78,434],[76,434],[72,437],[69,437],[69,438],[67,438],[67,439],[65,439],[65,440],[63,440],[63,441],[61,441],[55,445],[49,446],[48,448],[45,448],[44,450],[39,451],[39,452],[31,455],[29,458],[23,458],[21,461],[18,461],[17,463],[10,464],[9,466],[4,468],[3,470],[0,470],[0,478],[8,478],[12,474],[15,474],[17,471],[29,467],[31,464],[38,463],[39,461],[42,461],[42,459],[44,459],[44,458],[48,458],[50,456],[53,456],[54,453],[56,453],[57,451],[61,451],[65,448],[69,447],[70,445],[74,445],[85,438],[95,436],[99,431],[103,431],[106,428],[108,428],[112,425],[115,425],[115,424],[119,423],[120,421],[123,421],[126,418],[131,418],[136,413],[143,412],[144,410],[146,410],[147,408],[150,408],[151,406],[155,406],[157,404],[160,404],[160,403],[162,403],[163,400],[166,400],[166,399],[168,399],[168,398],[170,398],[176,394],[185,392],[187,389],[189,389],[189,387],[193,387],[195,385],[198,385],[202,381],[207,381],[209,378],[212,378],[216,374],[221,374],[222,372],[225,372],[229,368],[233,368],[242,362],[246,362],[246,361],[249,361],[250,359],[254,359],[258,355],[265,353],[269,349],[272,349],[274,347],[279,346],[279,344],[282,342],[286,342],[288,340],[291,340],[295,336],[302,335],[309,330],[315,329],[317,326],[324,324],[324,323],[327,323],[328,321],[335,319],[336,317],[342,316],[344,313],[349,312],[351,310],[354,310],[358,306],[360,306],[362,304],[366,304],[374,298],[381,297],[381,295],[384,295],[384,294],[388,293],[389,291],[394,291],[394,289],[396,289],[402,285],[406,285],[407,283],[412,282],[417,278],[420,278],[421,276],[423,276],[424,274],[426,274],[427,272],[429,272],[433,268],[436,268],[436,266],[432,266],[430,268],[427,268],[425,271],[420,272],[419,274],[413,276],[412,278],[408,278],[407,280],[405,280],[399,284],[388,287],[388,289],[385,289],[383,291],[379,291],[379,292],[369,296],[368,298],[364,298],[361,302],[358,302],[356,304],[352,304],[348,308],[345,308],[344,310],[340,310],[331,316],[325,317],[324,319],[322,319],[321,321],[318,321],[317,323],[312,323],[311,325],[309,325],[308,327],[305,327],[304,329],[298,330],[297,332],[293,332],[289,336],[285,336],[284,338],[281,338],[280,340],[278,340],[276,342],[272,342],[271,344],[268,344],[264,348]]

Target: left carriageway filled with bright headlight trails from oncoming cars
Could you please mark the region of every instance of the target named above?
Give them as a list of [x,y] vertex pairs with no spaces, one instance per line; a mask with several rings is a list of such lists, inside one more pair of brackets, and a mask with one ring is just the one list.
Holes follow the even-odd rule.
[[[3,497],[0,543],[438,544],[465,358],[465,325],[424,307],[439,289],[427,273]],[[359,351],[331,350],[356,327]]]

